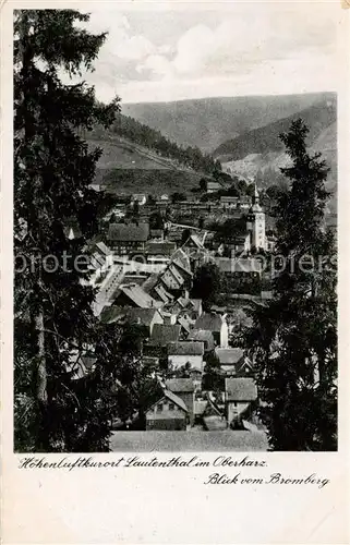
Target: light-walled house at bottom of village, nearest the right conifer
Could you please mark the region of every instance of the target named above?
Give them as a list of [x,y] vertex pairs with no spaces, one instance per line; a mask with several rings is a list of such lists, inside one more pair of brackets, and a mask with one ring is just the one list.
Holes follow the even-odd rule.
[[252,403],[257,400],[254,378],[226,378],[225,405],[228,423],[237,421],[251,412]]

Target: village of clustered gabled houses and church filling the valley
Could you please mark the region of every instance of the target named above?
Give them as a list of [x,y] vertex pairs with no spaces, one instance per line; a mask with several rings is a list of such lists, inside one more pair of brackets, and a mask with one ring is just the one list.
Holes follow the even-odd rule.
[[[244,183],[250,194],[232,196],[233,179],[222,172],[217,179],[202,180],[194,198],[119,197],[87,246],[95,315],[143,331],[137,358],[155,370],[159,385],[158,396],[145,400],[143,427],[135,412],[113,419],[114,431],[262,433],[254,361],[241,334],[249,308],[271,296],[264,258],[275,239],[266,232],[256,183]],[[79,237],[73,223],[68,235]],[[205,274],[213,269],[220,278],[214,300],[205,293]],[[76,376],[93,363],[80,361]]]

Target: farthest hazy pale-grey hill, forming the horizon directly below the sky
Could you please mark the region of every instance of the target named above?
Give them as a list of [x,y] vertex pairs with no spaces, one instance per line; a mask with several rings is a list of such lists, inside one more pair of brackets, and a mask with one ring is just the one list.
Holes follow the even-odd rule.
[[334,94],[200,98],[126,104],[122,112],[180,145],[197,146],[212,153],[228,140],[328,98],[333,99]]

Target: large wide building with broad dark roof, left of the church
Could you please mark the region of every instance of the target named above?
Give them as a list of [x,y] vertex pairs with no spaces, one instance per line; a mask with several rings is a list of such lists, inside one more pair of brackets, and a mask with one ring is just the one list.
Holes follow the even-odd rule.
[[148,223],[110,223],[108,243],[117,255],[145,253]]

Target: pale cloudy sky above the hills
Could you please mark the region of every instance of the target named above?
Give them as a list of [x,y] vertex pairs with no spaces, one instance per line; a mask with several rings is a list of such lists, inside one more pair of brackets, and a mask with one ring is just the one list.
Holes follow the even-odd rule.
[[[314,93],[337,88],[334,2],[93,5],[87,28],[108,32],[84,78],[100,100]],[[114,4],[116,5],[116,4]],[[122,9],[122,8],[125,9]],[[177,9],[174,9],[177,8]]]

